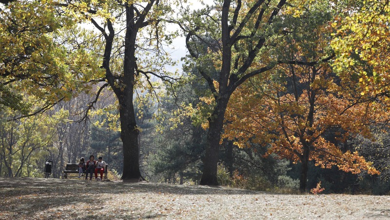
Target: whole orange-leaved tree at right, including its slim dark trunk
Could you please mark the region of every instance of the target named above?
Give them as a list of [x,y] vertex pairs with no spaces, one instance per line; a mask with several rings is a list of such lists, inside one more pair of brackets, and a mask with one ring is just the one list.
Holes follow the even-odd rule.
[[312,29],[312,36],[287,37],[280,49],[284,50],[281,64],[272,74],[238,88],[226,111],[223,137],[241,148],[269,146],[265,156],[274,153],[302,163],[301,191],[306,187],[309,161],[353,174],[379,173],[349,140],[356,134],[370,138],[370,123],[387,113],[382,103],[362,97],[358,78],[339,77],[330,62],[316,62],[322,57],[331,61],[327,52],[331,30],[323,22]]

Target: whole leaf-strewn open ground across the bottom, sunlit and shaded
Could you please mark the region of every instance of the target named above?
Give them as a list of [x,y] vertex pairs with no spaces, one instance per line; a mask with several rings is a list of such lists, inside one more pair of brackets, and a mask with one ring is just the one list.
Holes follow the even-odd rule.
[[0,219],[390,219],[390,196],[0,178]]

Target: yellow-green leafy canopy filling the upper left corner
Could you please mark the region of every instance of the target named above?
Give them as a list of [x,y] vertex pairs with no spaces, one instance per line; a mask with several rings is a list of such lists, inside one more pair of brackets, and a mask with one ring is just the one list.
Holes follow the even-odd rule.
[[41,112],[90,90],[102,75],[98,56],[88,50],[89,32],[58,10],[54,1],[14,1],[0,11],[2,107]]

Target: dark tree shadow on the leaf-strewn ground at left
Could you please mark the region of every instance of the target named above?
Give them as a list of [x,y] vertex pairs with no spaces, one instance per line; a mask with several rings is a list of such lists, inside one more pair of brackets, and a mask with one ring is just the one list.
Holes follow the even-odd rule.
[[[112,199],[118,194],[172,194],[172,195],[243,195],[261,192],[208,187],[198,185],[171,185],[165,183],[123,183],[111,181],[61,180],[39,178],[0,178],[0,219],[34,217],[33,219],[79,219],[76,212],[63,212],[64,206],[71,209],[94,210],[98,198]],[[113,196],[114,195],[114,196]],[[141,200],[142,198],[140,198]],[[82,205],[80,205],[82,204]],[[50,209],[45,216],[42,213]],[[129,210],[130,209],[130,210]],[[121,214],[123,213],[123,214]],[[125,214],[126,213],[126,214]],[[131,213],[129,215],[128,213]],[[120,210],[118,213],[84,213],[84,218],[110,219],[155,219],[163,215],[144,213],[137,207]]]

